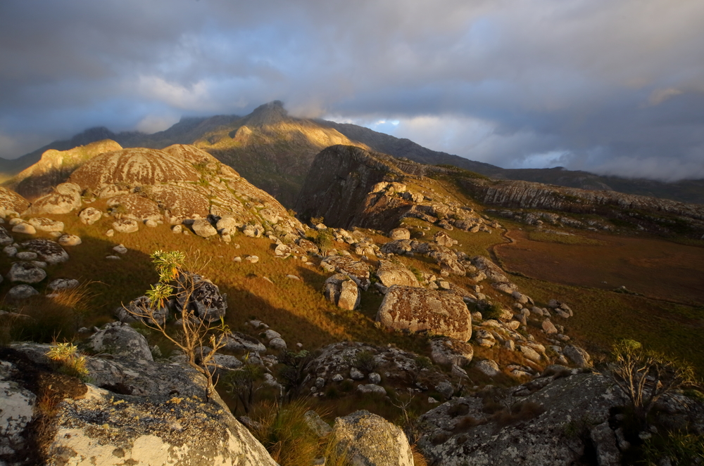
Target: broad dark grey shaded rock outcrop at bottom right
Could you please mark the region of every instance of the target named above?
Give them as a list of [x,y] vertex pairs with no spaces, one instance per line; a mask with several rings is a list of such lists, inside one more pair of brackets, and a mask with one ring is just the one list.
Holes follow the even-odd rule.
[[[524,390],[529,393],[527,396],[511,401],[518,413],[514,418],[496,416],[488,422],[465,421],[486,419],[479,395],[452,400],[430,410],[419,419],[423,430],[417,447],[429,463],[444,466],[565,466],[582,464],[584,453],[592,446],[603,451],[605,444],[601,439],[615,439],[614,432],[610,436],[593,435],[591,440],[589,435],[574,435],[579,429],[591,431],[600,425],[603,428],[610,408],[624,403],[607,377],[581,373],[555,380],[542,377],[529,383],[539,383],[537,386],[543,388]],[[508,401],[521,391],[522,387],[512,389],[504,398]],[[598,443],[593,444],[594,439]]]

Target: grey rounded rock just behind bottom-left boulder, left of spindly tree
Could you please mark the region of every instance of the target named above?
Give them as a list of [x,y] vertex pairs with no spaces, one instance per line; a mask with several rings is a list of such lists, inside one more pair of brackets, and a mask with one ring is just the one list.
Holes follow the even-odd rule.
[[116,357],[130,358],[137,361],[153,361],[149,344],[144,336],[130,325],[122,322],[107,323],[94,333],[87,342],[96,352],[110,353]]

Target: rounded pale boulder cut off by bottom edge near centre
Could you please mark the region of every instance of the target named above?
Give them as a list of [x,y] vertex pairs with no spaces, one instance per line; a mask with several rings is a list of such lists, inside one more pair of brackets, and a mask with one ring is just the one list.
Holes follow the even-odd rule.
[[403,430],[369,411],[337,418],[331,435],[337,451],[352,465],[413,466],[413,452]]

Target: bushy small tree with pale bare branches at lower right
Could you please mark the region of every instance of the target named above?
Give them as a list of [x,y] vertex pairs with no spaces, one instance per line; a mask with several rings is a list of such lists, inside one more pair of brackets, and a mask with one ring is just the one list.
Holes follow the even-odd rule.
[[636,418],[646,424],[648,413],[667,392],[695,384],[691,365],[671,361],[640,342],[623,339],[613,347],[611,375],[628,396]]

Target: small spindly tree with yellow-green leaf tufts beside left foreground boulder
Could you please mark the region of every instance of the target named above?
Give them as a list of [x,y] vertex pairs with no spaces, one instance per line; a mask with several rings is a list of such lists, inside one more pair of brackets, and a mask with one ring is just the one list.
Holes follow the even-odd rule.
[[[210,399],[211,390],[218,383],[215,379],[215,353],[225,347],[230,329],[221,317],[219,321],[209,321],[206,316],[196,316],[191,306],[191,295],[198,289],[198,279],[194,273],[186,271],[186,254],[181,251],[156,251],[151,259],[159,274],[159,283],[151,285],[146,292],[148,301],[144,301],[137,309],[127,312],[144,321],[145,325],[161,332],[170,342],[183,351],[188,358],[188,364],[206,377],[206,401]],[[196,258],[197,261],[197,258]],[[174,287],[177,284],[177,287]],[[155,315],[163,308],[170,298],[175,297],[180,309],[178,325],[172,330],[163,318]]]

